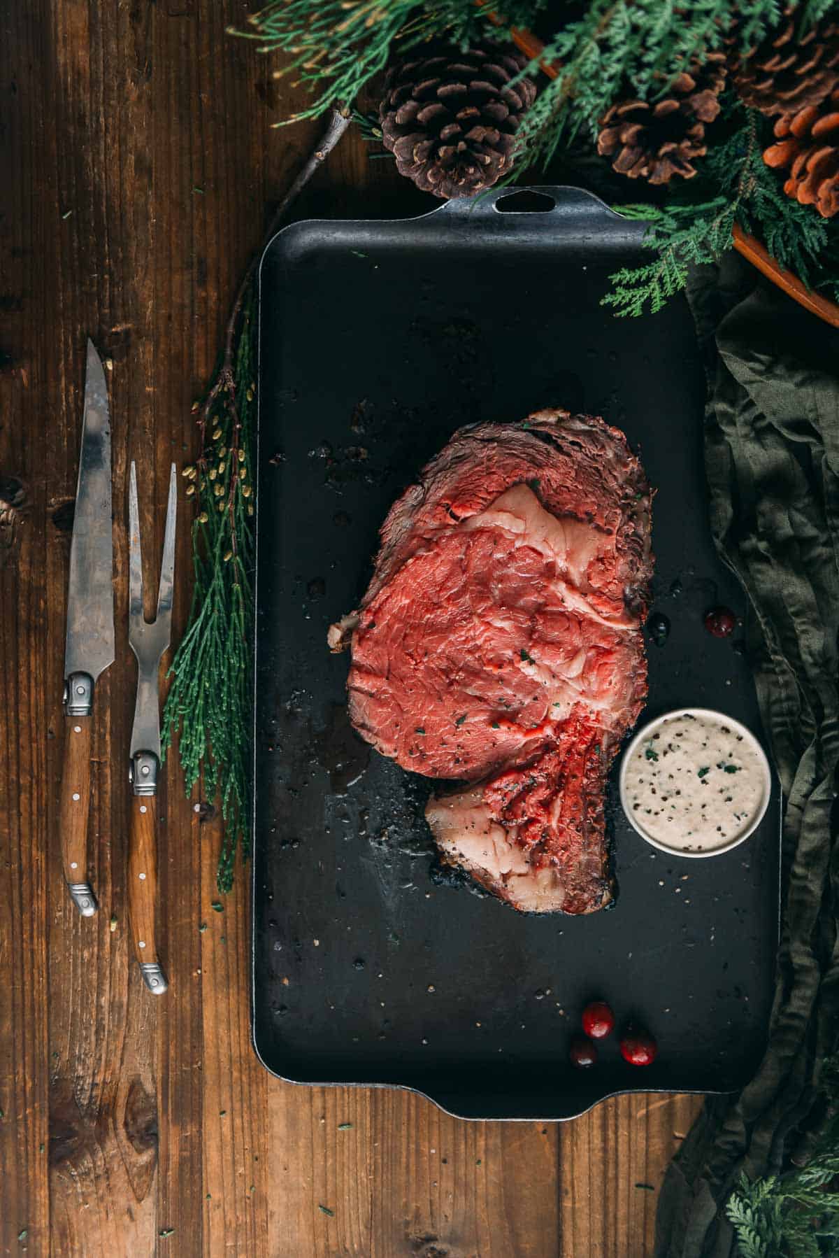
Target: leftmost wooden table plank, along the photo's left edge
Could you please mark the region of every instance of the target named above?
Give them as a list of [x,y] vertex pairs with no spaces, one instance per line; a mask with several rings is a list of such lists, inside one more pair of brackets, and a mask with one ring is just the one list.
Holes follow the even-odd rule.
[[[47,1250],[45,487],[26,419],[38,385],[43,156],[40,33],[25,6],[0,13],[0,484],[23,482],[25,515],[0,538],[0,1252]],[[11,491],[9,491],[11,492]],[[0,494],[3,491],[0,489]],[[35,733],[38,731],[38,733]]]

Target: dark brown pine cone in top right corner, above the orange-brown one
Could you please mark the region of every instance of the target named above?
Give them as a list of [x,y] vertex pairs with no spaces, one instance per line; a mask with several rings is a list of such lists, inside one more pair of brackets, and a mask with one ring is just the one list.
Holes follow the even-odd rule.
[[839,83],[839,21],[823,18],[799,38],[789,6],[779,30],[732,59],[732,83],[745,104],[772,117],[819,104]]

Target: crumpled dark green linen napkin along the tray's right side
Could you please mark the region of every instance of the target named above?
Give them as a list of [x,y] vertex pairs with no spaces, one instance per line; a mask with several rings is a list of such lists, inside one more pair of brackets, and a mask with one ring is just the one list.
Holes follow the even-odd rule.
[[750,654],[785,799],[769,1047],[738,1097],[708,1098],[658,1208],[658,1258],[730,1258],[735,1180],[781,1167],[838,1044],[839,332],[733,254],[697,269],[689,301],[708,371],[711,530],[751,603]]

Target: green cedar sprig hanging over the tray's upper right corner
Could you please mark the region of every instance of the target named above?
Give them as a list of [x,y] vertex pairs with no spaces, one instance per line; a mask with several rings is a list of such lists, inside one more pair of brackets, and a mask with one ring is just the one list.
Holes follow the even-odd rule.
[[815,281],[828,296],[839,297],[839,221],[823,219],[784,195],[761,156],[769,143],[769,125],[761,114],[728,96],[723,116],[735,130],[708,151],[701,176],[692,181],[696,186],[682,185],[662,206],[615,206],[649,224],[643,243],[658,255],[610,277],[613,291],[603,304],[616,314],[660,311],[684,288],[692,264],[714,262],[731,248],[735,224],[760,237],[771,255],[805,283]]

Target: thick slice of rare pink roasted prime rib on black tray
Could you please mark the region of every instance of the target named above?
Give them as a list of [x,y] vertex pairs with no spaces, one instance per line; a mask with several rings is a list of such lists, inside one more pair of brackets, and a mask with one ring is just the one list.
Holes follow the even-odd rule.
[[541,410],[460,429],[391,507],[351,647],[350,716],[455,780],[445,860],[526,912],[613,898],[604,789],[647,696],[650,489],[623,433]]

